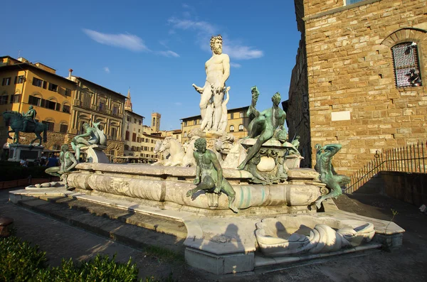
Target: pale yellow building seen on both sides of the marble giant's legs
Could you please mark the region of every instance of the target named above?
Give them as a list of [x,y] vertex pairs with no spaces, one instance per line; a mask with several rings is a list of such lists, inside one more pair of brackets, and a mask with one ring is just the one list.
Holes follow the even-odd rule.
[[[227,124],[227,133],[233,134],[234,138],[240,139],[243,137],[248,136],[248,116],[246,116],[246,112],[248,112],[249,106],[241,107],[241,108],[234,108],[234,109],[228,109],[227,111],[227,117],[228,117],[228,124]],[[184,117],[181,119],[181,131],[182,131],[182,138],[181,141],[185,142],[189,140],[187,137],[187,134],[189,134],[189,131],[194,128],[200,128],[201,125],[201,116],[190,116],[190,117]]]

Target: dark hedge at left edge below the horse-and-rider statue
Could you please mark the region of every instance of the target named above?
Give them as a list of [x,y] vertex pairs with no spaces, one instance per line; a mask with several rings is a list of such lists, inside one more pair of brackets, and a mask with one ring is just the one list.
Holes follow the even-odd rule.
[[31,175],[32,178],[48,178],[50,175],[44,171],[48,168],[47,166],[28,166],[23,167],[19,162],[14,161],[1,161],[0,162],[0,181],[18,180],[28,178]]

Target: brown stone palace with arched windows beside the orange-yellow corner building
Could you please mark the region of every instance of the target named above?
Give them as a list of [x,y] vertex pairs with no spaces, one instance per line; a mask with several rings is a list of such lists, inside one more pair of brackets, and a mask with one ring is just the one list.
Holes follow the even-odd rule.
[[100,122],[100,129],[108,140],[104,152],[111,157],[123,156],[122,124],[126,96],[83,77],[76,77],[72,72],[70,70],[68,80],[77,86],[70,116],[70,141],[73,136],[83,133],[85,122],[90,125]]

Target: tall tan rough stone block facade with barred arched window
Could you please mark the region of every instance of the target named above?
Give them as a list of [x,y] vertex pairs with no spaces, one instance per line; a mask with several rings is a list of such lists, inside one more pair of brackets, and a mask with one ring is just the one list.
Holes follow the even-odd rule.
[[[376,151],[427,139],[426,1],[295,0],[295,7],[305,41],[299,54],[306,52],[312,164],[316,143],[341,143],[334,166],[351,175]],[[391,48],[400,43],[418,50],[421,85],[396,86]],[[292,122],[304,122],[305,87],[295,80],[302,81],[292,73],[289,107],[298,111],[288,111],[290,132]]]

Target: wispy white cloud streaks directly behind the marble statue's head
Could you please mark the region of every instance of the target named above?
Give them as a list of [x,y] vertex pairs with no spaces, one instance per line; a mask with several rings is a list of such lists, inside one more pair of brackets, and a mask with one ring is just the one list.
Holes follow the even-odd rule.
[[[184,31],[196,31],[196,42],[199,43],[202,50],[211,51],[209,40],[211,36],[218,34],[218,28],[206,21],[192,21],[190,19],[180,19],[176,17],[169,18],[168,23],[172,25],[172,30],[181,29]],[[171,32],[169,31],[169,34]],[[252,46],[243,45],[238,40],[231,40],[228,36],[223,36],[223,53],[236,60],[250,60],[263,57],[262,50]]]

